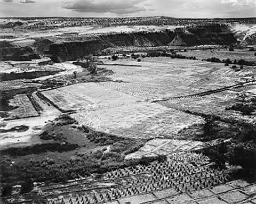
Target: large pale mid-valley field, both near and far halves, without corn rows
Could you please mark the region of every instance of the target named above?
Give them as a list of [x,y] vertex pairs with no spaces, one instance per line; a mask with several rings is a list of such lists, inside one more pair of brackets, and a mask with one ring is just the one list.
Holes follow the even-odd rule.
[[80,83],[43,91],[42,94],[62,111],[77,111],[71,116],[79,124],[135,138],[172,138],[181,129],[204,122],[199,116],[184,113],[182,108],[179,111],[177,104],[191,105],[189,111],[205,114],[217,114],[219,111],[222,114],[229,96],[221,95],[222,112],[219,107],[216,111],[212,106],[206,107],[207,103],[218,106],[217,102],[213,103],[218,95],[207,96],[202,101],[199,98],[191,104],[189,102],[193,99],[186,100],[184,104],[175,100],[173,107],[169,105],[172,101],[167,101],[167,105],[151,101],[234,86],[243,75],[253,73],[246,69],[238,73],[219,63],[167,57],[145,58],[143,62],[105,61],[99,66],[113,70],[115,73],[110,76],[113,80],[124,82]]

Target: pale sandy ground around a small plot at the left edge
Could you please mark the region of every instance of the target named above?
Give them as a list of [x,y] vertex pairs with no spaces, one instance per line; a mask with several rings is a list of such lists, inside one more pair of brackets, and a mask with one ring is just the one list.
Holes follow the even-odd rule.
[[[35,111],[33,105],[31,104],[26,95],[17,96],[19,96],[19,100],[22,97],[23,100],[27,102],[27,104],[19,104],[20,106],[17,109],[12,110],[10,114],[12,116],[18,116],[19,118],[14,120],[1,121],[1,124],[3,125],[3,128],[1,129],[9,130],[21,125],[28,126],[29,129],[22,132],[1,133],[0,150],[9,147],[33,146],[45,142],[39,139],[38,134],[42,132],[44,126],[47,123],[49,123],[49,121],[53,121],[56,117],[58,117],[61,114],[61,112],[58,111],[58,109],[41,100],[35,92],[33,93],[33,98],[35,99],[36,103],[38,103],[38,105],[41,106],[41,108],[43,109],[41,115],[38,115],[38,113]],[[18,100],[17,96],[14,97],[14,99],[11,99],[12,103]],[[21,118],[22,114],[27,115],[29,117]],[[32,114],[34,114],[34,116],[37,117],[31,117],[33,116]]]

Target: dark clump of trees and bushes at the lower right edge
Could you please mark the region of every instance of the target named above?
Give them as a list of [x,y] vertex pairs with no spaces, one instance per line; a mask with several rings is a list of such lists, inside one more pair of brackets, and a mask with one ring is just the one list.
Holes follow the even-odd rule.
[[[195,131],[194,128],[191,128],[191,130]],[[182,130],[180,134],[184,133],[186,133],[186,130]],[[197,126],[196,133],[190,133],[189,135],[192,137],[194,135],[194,138],[189,139],[199,141],[220,139],[217,145],[209,145],[200,150],[218,166],[225,168],[226,163],[240,165],[243,167],[244,176],[256,179],[256,165],[252,162],[256,159],[255,124],[223,123],[215,120],[206,120],[201,127]]]

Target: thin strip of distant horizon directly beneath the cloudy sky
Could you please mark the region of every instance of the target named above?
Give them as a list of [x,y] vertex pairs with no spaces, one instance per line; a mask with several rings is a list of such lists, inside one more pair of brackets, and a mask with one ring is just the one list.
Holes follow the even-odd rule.
[[0,19],[25,19],[25,18],[74,18],[74,19],[126,19],[126,18],[171,18],[171,19],[254,19],[256,16],[251,17],[232,17],[232,18],[175,18],[166,15],[155,16],[126,16],[126,17],[75,17],[75,16],[12,16],[12,17],[0,17]]

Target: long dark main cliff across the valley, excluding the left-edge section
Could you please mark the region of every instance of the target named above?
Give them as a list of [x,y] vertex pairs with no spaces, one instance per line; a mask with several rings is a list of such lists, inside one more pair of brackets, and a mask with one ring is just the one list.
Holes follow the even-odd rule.
[[64,38],[52,43],[47,54],[54,62],[77,60],[77,58],[110,47],[135,46],[196,46],[231,45],[237,43],[233,33],[226,25],[206,24],[195,27],[177,28],[162,31],[140,31],[130,33],[111,33],[86,37]]

